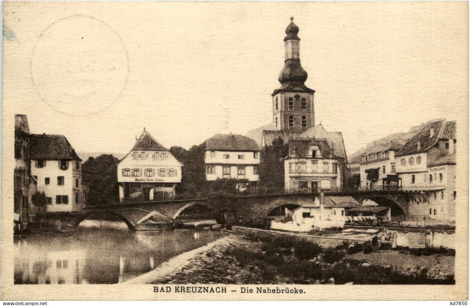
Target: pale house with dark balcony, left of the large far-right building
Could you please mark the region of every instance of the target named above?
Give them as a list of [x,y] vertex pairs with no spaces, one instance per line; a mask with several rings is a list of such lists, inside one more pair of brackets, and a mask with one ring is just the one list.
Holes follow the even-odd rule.
[[398,188],[395,153],[404,144],[388,142],[374,145],[360,158],[360,187],[362,189],[389,190]]

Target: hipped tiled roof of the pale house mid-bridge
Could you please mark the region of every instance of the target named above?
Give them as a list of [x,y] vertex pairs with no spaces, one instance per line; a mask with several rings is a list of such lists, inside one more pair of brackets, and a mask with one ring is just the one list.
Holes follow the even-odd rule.
[[259,151],[256,141],[239,134],[216,134],[205,144],[206,150]]

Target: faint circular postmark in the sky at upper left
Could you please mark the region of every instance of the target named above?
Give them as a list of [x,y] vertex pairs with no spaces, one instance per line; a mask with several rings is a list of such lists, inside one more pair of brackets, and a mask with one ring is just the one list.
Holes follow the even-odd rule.
[[109,107],[124,90],[129,56],[109,24],[88,15],[51,23],[31,54],[31,80],[49,106],[69,115]]

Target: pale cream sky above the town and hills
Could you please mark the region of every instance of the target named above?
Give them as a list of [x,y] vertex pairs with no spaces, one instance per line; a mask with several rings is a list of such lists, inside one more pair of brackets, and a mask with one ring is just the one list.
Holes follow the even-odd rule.
[[[467,2],[4,2],[3,120],[77,152],[272,122],[294,17],[315,122],[346,152],[468,113]],[[461,122],[467,124],[468,122]]]

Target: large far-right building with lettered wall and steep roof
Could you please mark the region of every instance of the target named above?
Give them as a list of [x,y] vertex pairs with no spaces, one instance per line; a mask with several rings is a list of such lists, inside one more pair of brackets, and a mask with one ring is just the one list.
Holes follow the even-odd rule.
[[454,221],[456,122],[427,122],[396,154],[396,171],[410,197],[408,218]]

